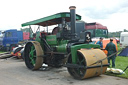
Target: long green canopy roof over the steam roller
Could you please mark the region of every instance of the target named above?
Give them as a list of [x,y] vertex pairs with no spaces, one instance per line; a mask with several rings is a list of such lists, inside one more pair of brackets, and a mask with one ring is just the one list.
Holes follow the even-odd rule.
[[[34,21],[26,22],[22,24],[22,27],[28,25],[40,25],[40,26],[50,26],[60,24],[62,18],[65,18],[66,22],[70,21],[70,12],[61,12],[48,17],[40,18]],[[76,20],[81,20],[81,16],[76,14]]]

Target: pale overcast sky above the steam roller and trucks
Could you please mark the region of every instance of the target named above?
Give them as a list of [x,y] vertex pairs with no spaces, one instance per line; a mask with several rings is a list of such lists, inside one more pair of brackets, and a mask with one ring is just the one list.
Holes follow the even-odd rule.
[[76,13],[85,22],[99,22],[109,32],[128,30],[128,0],[0,0],[0,30],[20,29],[21,24],[59,12]]

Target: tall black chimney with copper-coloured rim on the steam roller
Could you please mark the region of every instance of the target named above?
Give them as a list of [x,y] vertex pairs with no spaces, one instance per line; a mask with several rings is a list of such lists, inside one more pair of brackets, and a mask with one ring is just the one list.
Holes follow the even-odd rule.
[[75,29],[76,29],[76,13],[75,13],[75,6],[70,6],[70,18],[71,18],[71,33],[72,39],[75,39]]

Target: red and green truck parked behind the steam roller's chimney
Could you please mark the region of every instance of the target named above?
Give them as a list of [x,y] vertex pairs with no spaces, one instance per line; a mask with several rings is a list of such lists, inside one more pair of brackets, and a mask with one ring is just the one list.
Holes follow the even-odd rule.
[[[68,27],[71,28],[70,22],[68,22]],[[86,23],[86,22],[80,20],[80,21],[76,21],[76,27],[79,28],[79,29],[76,29],[77,32],[79,32],[80,29],[82,29],[82,28],[85,28],[84,30],[91,32],[92,38],[96,38],[96,37],[108,38],[107,27],[103,26],[100,23],[97,23],[97,22]]]

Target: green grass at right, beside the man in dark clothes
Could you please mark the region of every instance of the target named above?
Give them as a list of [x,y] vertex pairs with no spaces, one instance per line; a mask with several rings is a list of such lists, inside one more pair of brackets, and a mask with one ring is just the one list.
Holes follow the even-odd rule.
[[[118,50],[120,50],[120,46],[119,44],[118,46]],[[112,63],[112,62],[111,62]],[[115,61],[116,67],[117,69],[121,69],[124,70],[127,66],[128,66],[128,57],[124,57],[124,56],[117,56],[116,57],[116,61]],[[105,73],[106,75],[111,75],[111,76],[117,76],[117,77],[122,77],[122,78],[128,78],[128,69],[125,71],[125,74],[113,74],[113,73]]]

